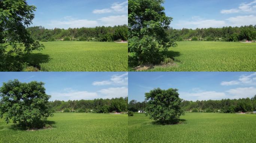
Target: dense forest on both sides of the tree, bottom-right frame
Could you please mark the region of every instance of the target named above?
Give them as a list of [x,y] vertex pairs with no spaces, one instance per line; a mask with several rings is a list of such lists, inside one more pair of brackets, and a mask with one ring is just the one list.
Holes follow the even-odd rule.
[[[128,104],[129,111],[138,111],[144,109],[147,103],[137,102],[131,100]],[[208,101],[183,101],[181,108],[184,111],[190,112],[222,112],[222,113],[235,113],[235,112],[252,112],[256,111],[256,95],[253,98],[241,99],[222,99],[222,100],[208,100]]]

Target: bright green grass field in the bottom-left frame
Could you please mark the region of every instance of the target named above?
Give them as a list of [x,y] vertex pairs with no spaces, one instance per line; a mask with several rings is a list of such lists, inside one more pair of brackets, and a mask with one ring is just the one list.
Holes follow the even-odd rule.
[[0,119],[0,143],[127,143],[127,115],[55,113],[54,128],[24,131]]

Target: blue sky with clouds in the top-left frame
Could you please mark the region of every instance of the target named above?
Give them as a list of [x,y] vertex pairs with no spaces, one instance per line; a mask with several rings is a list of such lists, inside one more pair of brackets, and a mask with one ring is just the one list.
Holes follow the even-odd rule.
[[33,26],[80,28],[128,24],[128,0],[27,0],[37,7]]

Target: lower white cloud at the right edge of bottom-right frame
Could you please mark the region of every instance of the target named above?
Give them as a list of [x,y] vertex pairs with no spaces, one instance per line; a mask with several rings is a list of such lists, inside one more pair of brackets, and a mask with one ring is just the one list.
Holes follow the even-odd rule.
[[253,97],[254,95],[256,95],[256,88],[255,87],[236,88],[236,89],[229,89],[226,92],[231,94],[232,99],[247,98],[247,97]]

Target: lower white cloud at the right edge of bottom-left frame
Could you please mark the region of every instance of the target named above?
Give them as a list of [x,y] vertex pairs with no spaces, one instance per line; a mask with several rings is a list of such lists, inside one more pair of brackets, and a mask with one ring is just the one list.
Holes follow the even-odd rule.
[[98,92],[103,94],[103,97],[106,98],[119,98],[119,97],[127,97],[128,96],[128,88],[121,87],[121,88],[108,88],[108,89],[101,89]]

